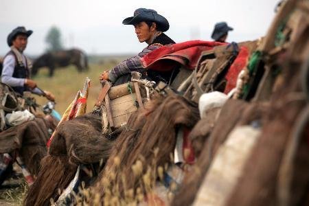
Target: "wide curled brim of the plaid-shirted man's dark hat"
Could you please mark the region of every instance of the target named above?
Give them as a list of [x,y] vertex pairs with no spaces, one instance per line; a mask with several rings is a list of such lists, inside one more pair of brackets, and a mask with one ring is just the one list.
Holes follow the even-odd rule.
[[124,21],[122,21],[122,24],[124,25],[134,25],[136,23],[140,23],[142,21],[152,21],[155,23],[158,23],[161,26],[161,32],[166,32],[170,28],[170,24],[168,23],[168,20],[165,19],[164,16],[161,16],[160,14],[156,14],[156,16],[147,16],[144,15],[143,12],[137,14],[136,16],[130,16]]

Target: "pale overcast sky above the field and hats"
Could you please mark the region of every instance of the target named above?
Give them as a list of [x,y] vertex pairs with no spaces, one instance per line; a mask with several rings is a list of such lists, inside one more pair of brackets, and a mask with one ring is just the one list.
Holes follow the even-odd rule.
[[133,26],[122,20],[137,8],[152,8],[170,22],[166,32],[177,43],[192,39],[211,41],[214,24],[227,21],[234,28],[227,41],[248,41],[264,36],[275,16],[277,0],[0,0],[0,56],[8,52],[6,38],[17,26],[34,30],[26,54],[45,51],[45,36],[52,25],[62,34],[66,48],[89,54],[137,53]]

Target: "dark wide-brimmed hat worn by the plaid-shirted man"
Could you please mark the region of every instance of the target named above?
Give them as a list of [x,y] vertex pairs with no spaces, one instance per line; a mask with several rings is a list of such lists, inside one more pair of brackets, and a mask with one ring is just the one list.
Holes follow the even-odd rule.
[[157,23],[161,28],[161,32],[165,32],[170,28],[170,24],[164,16],[161,16],[155,10],[150,10],[146,8],[139,8],[135,10],[134,16],[130,16],[124,19],[122,23],[125,25],[133,25],[141,21],[152,21]]

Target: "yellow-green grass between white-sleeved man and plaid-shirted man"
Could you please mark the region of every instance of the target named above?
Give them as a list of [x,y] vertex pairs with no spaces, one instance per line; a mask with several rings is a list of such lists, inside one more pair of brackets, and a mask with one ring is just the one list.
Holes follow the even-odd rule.
[[[84,86],[84,80],[89,77],[91,79],[91,87],[87,100],[87,112],[90,112],[92,111],[95,100],[98,98],[100,92],[100,73],[106,69],[111,69],[114,66],[115,62],[106,62],[102,65],[90,64],[89,71],[82,73],[78,73],[76,67],[69,66],[56,69],[52,78],[47,76],[47,68],[41,68],[38,75],[33,79],[36,81],[38,87],[54,93],[56,98],[56,111],[62,115],[67,106],[69,106],[75,98],[78,90],[82,89]],[[37,103],[41,105],[47,102],[47,99],[43,97],[38,97],[36,100]]]

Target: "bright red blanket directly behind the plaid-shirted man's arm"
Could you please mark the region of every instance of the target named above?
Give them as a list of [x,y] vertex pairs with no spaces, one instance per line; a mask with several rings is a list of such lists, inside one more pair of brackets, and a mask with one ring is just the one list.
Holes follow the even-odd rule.
[[170,71],[174,69],[177,62],[185,67],[194,69],[202,52],[225,44],[227,43],[196,40],[165,45],[146,54],[141,58],[141,64],[144,68],[156,71]]

